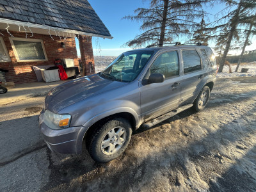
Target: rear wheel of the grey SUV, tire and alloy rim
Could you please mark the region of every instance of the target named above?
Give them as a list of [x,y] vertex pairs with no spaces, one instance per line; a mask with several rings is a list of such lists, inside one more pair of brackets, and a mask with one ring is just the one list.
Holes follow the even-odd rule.
[[202,88],[201,92],[198,94],[198,96],[196,97],[196,100],[194,101],[194,105],[193,105],[193,109],[195,109],[195,111],[199,112],[202,111],[208,100],[210,97],[210,88],[209,86],[204,86],[204,88]]

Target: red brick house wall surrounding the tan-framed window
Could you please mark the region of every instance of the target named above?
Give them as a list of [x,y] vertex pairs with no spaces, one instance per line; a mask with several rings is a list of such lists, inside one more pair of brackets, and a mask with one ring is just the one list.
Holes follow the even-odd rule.
[[[58,36],[52,36],[52,40],[49,35],[34,34],[32,38],[40,39],[44,41],[44,47],[48,61],[32,61],[32,62],[17,62],[15,54],[10,43],[10,35],[6,31],[0,31],[4,36],[4,44],[9,52],[12,62],[0,62],[0,68],[9,70],[6,73],[6,81],[14,81],[15,83],[28,83],[37,81],[35,72],[32,66],[40,65],[54,65],[54,60],[60,59],[74,59],[76,66],[79,65],[77,60],[76,42],[74,38],[67,38],[65,42],[65,48],[61,47],[61,41]],[[26,38],[26,33],[10,31],[14,37]],[[28,34],[28,39],[31,34]],[[63,41],[63,38],[62,38]]]

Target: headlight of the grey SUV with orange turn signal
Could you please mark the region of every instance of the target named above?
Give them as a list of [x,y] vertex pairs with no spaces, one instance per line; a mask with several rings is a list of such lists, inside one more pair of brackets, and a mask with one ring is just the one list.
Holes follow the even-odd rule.
[[49,110],[44,112],[44,123],[51,129],[63,129],[69,127],[71,115],[69,114],[56,114]]

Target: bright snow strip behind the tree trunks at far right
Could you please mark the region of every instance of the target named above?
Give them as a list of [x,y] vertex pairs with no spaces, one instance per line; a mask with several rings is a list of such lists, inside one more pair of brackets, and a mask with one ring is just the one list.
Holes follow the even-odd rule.
[[[241,73],[241,68],[249,68],[248,72]],[[232,77],[252,77],[256,76],[256,61],[251,63],[241,63],[238,68],[238,72],[234,72],[236,70],[236,65],[231,65],[232,73],[228,73],[229,67],[225,65],[223,67],[222,73],[217,74],[217,78],[232,78]]]

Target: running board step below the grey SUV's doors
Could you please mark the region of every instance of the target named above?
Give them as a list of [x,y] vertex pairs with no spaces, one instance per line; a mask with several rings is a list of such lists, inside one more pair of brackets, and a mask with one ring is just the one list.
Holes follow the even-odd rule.
[[170,111],[169,113],[165,113],[165,114],[162,115],[162,116],[159,116],[159,117],[157,117],[157,118],[154,118],[154,119],[152,119],[152,120],[146,122],[145,124],[142,124],[142,125],[141,125],[141,128],[143,128],[143,129],[148,129],[148,128],[150,128],[150,127],[156,125],[156,124],[159,124],[160,122],[163,122],[164,120],[166,120],[166,119],[168,119],[168,118],[171,118],[171,117],[174,116],[174,115],[177,115],[177,114],[180,113],[181,111],[184,111],[184,110],[186,110],[186,109],[188,109],[188,108],[191,108],[192,106],[193,106],[193,104],[188,104],[188,105],[186,105],[186,106],[182,106],[182,107],[177,108],[177,109],[175,109],[175,110],[173,110],[173,111]]

